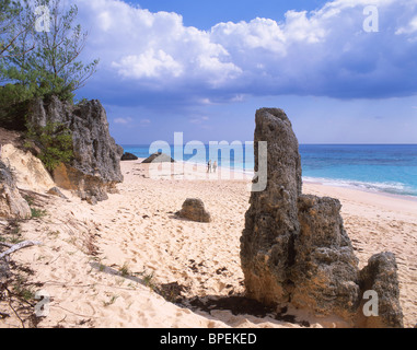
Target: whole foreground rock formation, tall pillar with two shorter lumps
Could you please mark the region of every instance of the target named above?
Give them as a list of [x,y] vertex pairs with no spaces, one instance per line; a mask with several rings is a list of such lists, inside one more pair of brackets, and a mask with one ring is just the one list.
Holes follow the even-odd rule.
[[[268,143],[268,183],[252,192],[241,237],[247,296],[337,316],[347,326],[401,326],[395,258],[378,255],[359,270],[340,202],[302,195],[299,145],[283,110],[257,110],[255,164],[259,141]],[[369,289],[381,303],[378,320],[363,320],[362,295]]]

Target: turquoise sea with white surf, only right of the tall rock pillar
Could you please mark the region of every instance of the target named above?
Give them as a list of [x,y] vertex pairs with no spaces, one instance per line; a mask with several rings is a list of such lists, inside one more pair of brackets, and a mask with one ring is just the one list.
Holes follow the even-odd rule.
[[305,179],[417,196],[417,144],[303,144],[300,153]]

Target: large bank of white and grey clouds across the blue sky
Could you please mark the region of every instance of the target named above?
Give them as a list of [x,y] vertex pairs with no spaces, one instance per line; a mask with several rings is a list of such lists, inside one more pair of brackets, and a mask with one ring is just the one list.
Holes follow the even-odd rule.
[[335,0],[312,12],[288,11],[281,22],[256,18],[210,31],[185,26],[181,14],[152,13],[119,0],[77,3],[83,26],[91,28],[86,55],[102,61],[97,89],[108,86],[108,96],[123,90],[137,95],[131,103],[417,93],[410,74],[417,71],[415,0],[373,0],[378,33],[363,31],[369,0]]

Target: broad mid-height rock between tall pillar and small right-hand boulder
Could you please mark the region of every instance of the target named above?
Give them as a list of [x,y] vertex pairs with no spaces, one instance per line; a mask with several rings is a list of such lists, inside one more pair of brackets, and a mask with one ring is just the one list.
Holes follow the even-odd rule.
[[334,198],[299,197],[300,233],[291,270],[291,303],[352,324],[359,305],[358,258]]

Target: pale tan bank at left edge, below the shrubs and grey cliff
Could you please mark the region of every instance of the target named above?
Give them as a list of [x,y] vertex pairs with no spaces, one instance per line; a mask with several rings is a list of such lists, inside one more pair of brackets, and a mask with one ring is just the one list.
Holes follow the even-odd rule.
[[31,152],[22,151],[13,144],[3,144],[1,160],[13,168],[19,188],[45,192],[55,187],[55,183],[42,161]]

